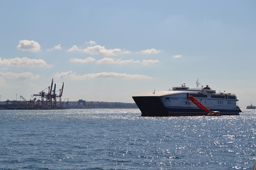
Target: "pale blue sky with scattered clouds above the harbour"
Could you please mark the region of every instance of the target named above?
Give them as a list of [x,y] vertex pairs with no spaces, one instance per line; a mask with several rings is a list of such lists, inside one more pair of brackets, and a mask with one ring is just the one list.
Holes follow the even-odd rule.
[[[186,83],[256,105],[256,1],[0,1],[0,98],[134,103]],[[46,90],[47,92],[47,90]]]

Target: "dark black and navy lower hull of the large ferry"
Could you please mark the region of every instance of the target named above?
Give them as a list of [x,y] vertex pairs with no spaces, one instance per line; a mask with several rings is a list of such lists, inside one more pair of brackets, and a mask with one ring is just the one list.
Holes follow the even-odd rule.
[[[168,107],[162,103],[160,97],[133,97],[141,111],[141,116],[206,116],[207,114],[198,107]],[[239,107],[230,109],[208,108],[220,111],[222,115],[239,115]]]

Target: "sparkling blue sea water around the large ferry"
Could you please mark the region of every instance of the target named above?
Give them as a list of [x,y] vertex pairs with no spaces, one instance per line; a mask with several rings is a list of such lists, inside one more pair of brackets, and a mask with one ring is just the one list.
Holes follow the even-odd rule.
[[0,169],[252,169],[256,111],[0,110]]

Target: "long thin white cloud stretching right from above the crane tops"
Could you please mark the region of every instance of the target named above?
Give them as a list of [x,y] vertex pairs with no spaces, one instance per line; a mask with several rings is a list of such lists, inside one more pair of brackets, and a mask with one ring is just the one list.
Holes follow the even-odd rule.
[[77,73],[73,73],[73,71],[68,72],[57,72],[55,74],[56,78],[67,78],[70,80],[88,80],[94,78],[126,78],[126,79],[149,79],[147,75],[128,75],[127,73],[116,73],[116,72],[100,72],[100,73],[90,73],[86,75],[77,75]]

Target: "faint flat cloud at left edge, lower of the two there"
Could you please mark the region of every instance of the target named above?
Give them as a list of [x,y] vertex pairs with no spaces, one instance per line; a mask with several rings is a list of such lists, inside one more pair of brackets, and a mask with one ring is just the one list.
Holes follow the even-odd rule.
[[13,73],[13,72],[0,72],[0,77],[3,78],[14,78],[14,79],[29,79],[29,80],[33,80],[33,79],[39,79],[39,75],[33,75],[31,72],[21,72],[21,73]]

